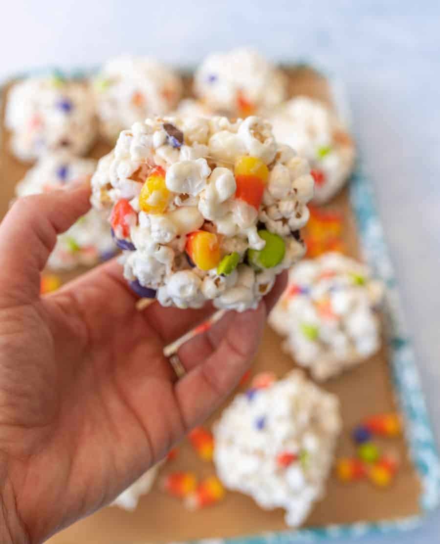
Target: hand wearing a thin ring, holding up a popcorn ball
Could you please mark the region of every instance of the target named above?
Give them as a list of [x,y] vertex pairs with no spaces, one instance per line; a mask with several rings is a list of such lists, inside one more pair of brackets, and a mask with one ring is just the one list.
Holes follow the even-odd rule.
[[[213,312],[136,310],[115,261],[40,296],[59,234],[89,188],[17,201],[0,225],[0,537],[41,542],[108,504],[200,423],[240,380],[285,275],[257,310],[228,312],[179,350],[164,347]],[[2,532],[3,531],[3,532]]]

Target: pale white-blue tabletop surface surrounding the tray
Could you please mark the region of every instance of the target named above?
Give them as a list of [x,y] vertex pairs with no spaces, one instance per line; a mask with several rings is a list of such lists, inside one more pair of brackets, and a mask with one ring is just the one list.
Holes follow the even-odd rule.
[[[121,52],[178,65],[249,44],[324,64],[347,84],[374,181],[437,436],[440,436],[440,3],[319,0],[0,2],[0,78],[31,67],[92,66]],[[436,514],[417,534],[437,544]],[[369,542],[369,541],[368,541]]]

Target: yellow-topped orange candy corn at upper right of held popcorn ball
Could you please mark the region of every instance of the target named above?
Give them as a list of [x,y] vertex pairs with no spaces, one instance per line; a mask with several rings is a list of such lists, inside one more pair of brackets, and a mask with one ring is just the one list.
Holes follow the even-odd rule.
[[236,199],[244,200],[258,209],[263,198],[269,169],[258,157],[243,155],[235,161],[234,175],[237,189]]

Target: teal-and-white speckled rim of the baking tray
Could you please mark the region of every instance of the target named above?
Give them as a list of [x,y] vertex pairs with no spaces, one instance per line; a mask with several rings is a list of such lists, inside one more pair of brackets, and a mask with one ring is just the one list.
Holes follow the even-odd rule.
[[[336,109],[342,114],[345,122],[349,123],[350,110],[343,84],[328,70],[309,61],[292,63],[290,66],[294,65],[309,67],[328,79]],[[53,69],[48,70],[47,68],[38,69],[32,71],[32,73],[19,73],[14,79],[53,71]],[[64,73],[70,77],[83,78],[96,71],[97,69],[93,67]],[[185,69],[182,71],[190,72],[192,70]],[[0,93],[2,94],[4,86],[0,84]],[[386,535],[394,531],[407,531],[419,527],[424,517],[440,504],[440,458],[419,378],[416,356],[404,322],[393,264],[389,257],[384,231],[376,209],[373,184],[364,173],[361,161],[358,161],[356,170],[349,181],[349,193],[351,206],[356,217],[363,257],[373,270],[374,275],[381,279],[386,286],[384,305],[386,337],[395,390],[400,409],[405,418],[405,434],[412,461],[422,483],[422,494],[420,496],[422,514],[374,523],[358,522],[325,527],[307,527],[231,539],[201,539],[186,542],[186,544],[291,544],[292,542],[322,542],[330,539]]]

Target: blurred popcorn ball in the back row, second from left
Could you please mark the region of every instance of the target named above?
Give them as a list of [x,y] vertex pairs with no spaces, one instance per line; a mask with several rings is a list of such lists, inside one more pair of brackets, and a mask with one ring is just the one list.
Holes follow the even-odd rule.
[[122,129],[177,105],[182,84],[177,74],[148,57],[109,60],[93,81],[100,131],[111,142]]

